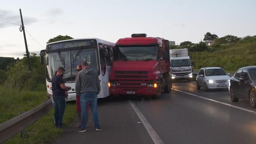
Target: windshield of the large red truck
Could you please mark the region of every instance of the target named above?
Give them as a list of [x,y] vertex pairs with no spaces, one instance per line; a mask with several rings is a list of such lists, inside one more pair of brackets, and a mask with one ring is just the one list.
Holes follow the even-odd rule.
[[119,47],[117,60],[156,60],[157,46]]

